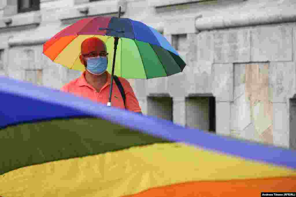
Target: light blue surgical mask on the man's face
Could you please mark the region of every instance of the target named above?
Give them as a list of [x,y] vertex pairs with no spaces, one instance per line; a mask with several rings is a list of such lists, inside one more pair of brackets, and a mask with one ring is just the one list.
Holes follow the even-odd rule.
[[107,57],[97,56],[86,58],[86,69],[94,75],[101,75],[107,69]]

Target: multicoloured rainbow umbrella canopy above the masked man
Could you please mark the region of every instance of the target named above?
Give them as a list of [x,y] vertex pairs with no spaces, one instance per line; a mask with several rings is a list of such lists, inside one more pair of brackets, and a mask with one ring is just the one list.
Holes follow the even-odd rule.
[[57,33],[43,47],[52,61],[70,69],[84,71],[79,55],[83,40],[100,38],[107,45],[111,73],[114,37],[118,37],[115,75],[124,78],[151,79],[182,72],[185,62],[157,30],[128,18],[91,17],[81,19]]

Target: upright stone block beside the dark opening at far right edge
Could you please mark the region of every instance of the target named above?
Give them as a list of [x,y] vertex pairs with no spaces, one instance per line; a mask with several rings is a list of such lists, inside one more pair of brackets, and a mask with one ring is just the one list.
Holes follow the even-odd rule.
[[289,147],[287,103],[273,103],[273,143],[276,146]]

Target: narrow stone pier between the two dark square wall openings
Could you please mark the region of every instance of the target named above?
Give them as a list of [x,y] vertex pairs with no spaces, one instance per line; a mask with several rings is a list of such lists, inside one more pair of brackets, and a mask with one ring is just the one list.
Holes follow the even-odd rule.
[[181,126],[186,125],[186,102],[184,97],[173,98],[173,122]]

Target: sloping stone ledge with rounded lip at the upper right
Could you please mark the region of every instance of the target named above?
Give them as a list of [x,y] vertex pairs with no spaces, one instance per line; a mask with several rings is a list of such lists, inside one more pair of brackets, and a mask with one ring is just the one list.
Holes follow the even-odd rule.
[[[295,1],[245,1],[219,12],[202,13],[197,18],[195,27],[198,30],[213,30],[229,27],[276,24],[296,21]],[[262,6],[263,5],[263,6]],[[250,10],[253,10],[250,12]]]

